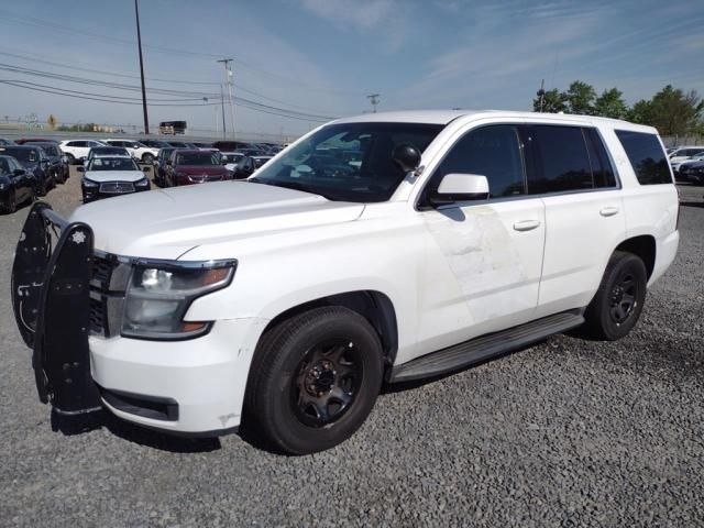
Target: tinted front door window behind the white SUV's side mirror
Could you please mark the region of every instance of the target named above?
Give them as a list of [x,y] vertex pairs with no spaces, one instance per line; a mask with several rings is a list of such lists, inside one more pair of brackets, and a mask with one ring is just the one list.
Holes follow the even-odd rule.
[[491,197],[522,195],[524,164],[518,131],[512,125],[473,130],[452,146],[429,185],[437,190],[447,174],[486,176]]

